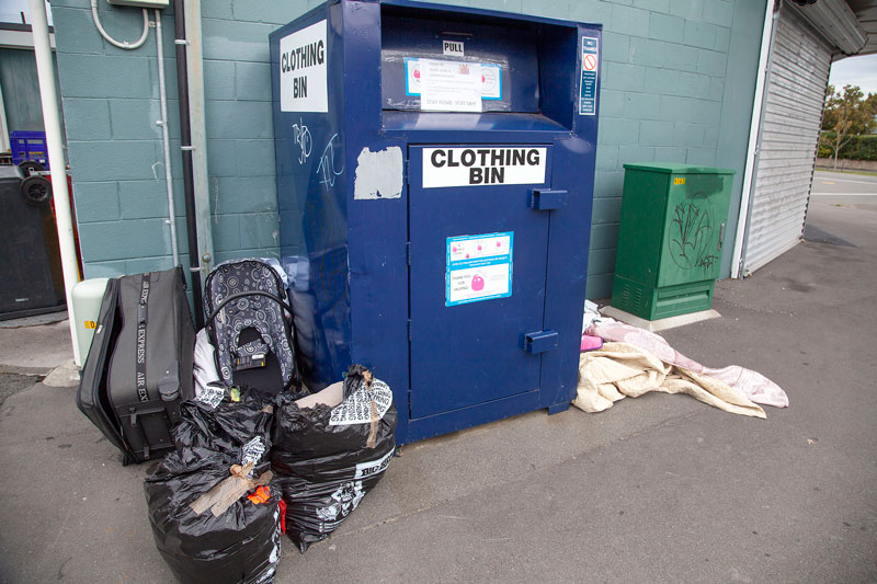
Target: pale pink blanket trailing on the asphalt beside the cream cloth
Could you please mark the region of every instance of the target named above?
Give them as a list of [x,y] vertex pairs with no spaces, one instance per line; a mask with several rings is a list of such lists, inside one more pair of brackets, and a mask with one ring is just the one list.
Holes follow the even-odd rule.
[[706,375],[725,381],[732,388],[739,389],[750,400],[764,405],[787,408],[788,396],[783,389],[758,371],[745,369],[739,365],[730,365],[722,369],[705,367],[692,360],[668,343],[662,336],[652,332],[617,322],[613,319],[601,319],[592,322],[584,335],[600,336],[604,341],[629,343],[648,351],[662,362],[683,367],[694,373]]

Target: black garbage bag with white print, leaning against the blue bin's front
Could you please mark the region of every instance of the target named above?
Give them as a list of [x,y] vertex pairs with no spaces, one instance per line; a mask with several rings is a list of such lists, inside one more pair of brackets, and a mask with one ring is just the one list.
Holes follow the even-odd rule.
[[344,400],[301,409],[278,396],[271,466],[286,502],[286,535],[303,553],[329,537],[380,480],[396,449],[392,391],[351,366]]

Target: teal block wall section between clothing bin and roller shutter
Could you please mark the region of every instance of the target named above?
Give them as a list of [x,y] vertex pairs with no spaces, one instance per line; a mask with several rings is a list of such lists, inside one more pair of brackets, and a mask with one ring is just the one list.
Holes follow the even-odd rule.
[[[589,298],[611,296],[624,163],[660,160],[732,165],[730,161],[716,160],[716,147],[734,1],[452,0],[445,3],[603,24],[600,133],[586,294]],[[748,128],[749,119],[741,123]]]

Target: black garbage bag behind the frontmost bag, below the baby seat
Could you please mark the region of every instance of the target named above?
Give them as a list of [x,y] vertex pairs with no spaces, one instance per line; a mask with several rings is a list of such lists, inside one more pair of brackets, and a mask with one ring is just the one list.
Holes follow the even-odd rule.
[[[212,383],[180,404],[180,422],[173,427],[178,448],[207,448],[236,453],[246,448],[257,459],[271,448],[274,399],[247,387]],[[241,461],[246,462],[246,456]]]

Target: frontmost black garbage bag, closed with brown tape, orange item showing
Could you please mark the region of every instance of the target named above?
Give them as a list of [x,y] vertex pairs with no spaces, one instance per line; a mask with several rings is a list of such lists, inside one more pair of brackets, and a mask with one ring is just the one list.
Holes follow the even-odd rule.
[[[186,447],[168,455],[144,480],[156,547],[181,582],[261,584],[274,579],[285,504],[264,461],[238,466],[241,477],[230,478],[239,461],[238,456]],[[254,478],[246,481],[251,468]],[[196,513],[192,505],[229,480],[267,482],[248,489],[218,515],[212,505]]]

